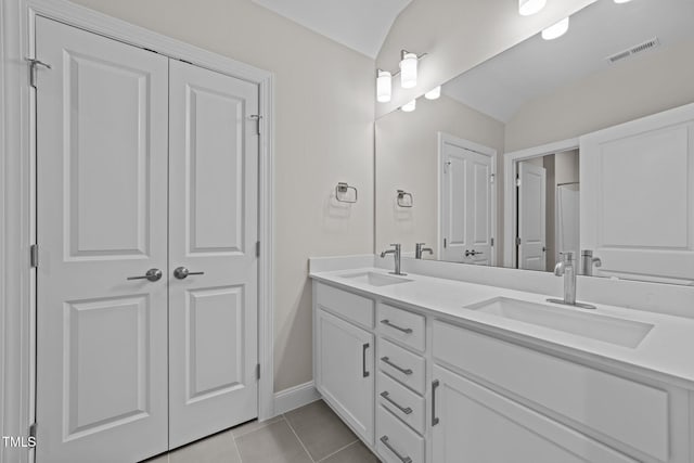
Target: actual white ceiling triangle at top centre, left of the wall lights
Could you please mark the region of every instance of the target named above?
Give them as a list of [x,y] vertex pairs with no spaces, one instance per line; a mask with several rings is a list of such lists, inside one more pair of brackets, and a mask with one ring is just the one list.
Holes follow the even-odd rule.
[[412,0],[253,0],[336,42],[376,57]]

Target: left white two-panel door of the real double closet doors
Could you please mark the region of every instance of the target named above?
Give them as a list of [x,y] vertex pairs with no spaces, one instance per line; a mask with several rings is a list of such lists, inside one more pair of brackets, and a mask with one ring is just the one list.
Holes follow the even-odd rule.
[[37,17],[37,462],[167,449],[167,59]]

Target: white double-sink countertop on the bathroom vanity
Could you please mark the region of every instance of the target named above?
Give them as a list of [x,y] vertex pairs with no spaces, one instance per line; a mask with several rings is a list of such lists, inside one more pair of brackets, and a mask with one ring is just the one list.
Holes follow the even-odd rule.
[[[310,276],[361,294],[399,303],[434,316],[455,318],[461,323],[487,329],[519,340],[556,348],[569,353],[578,353],[582,357],[607,362],[611,365],[617,364],[645,370],[644,373],[655,373],[658,378],[665,375],[668,382],[694,390],[694,320],[692,319],[602,304],[594,304],[597,307],[595,310],[584,310],[547,303],[548,296],[545,295],[412,273],[403,276],[412,280],[411,282],[387,286],[372,286],[340,276],[359,272],[388,274],[383,269],[359,268],[311,272]],[[527,300],[550,306],[556,310],[589,312],[648,323],[654,327],[635,348],[629,348],[465,308],[465,306],[494,297]],[[583,301],[580,300],[580,297],[578,299]]]

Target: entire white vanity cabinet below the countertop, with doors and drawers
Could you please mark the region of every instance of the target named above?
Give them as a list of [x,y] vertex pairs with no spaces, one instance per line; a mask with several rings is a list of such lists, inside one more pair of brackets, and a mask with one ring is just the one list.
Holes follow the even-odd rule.
[[694,463],[694,393],[676,380],[377,295],[314,294],[317,387],[384,462]]

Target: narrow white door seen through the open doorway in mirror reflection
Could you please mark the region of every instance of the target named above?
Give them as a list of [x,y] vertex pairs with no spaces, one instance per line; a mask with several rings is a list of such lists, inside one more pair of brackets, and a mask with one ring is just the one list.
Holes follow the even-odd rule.
[[[518,268],[547,269],[547,170],[530,163],[518,164]],[[563,252],[564,249],[560,249]],[[574,256],[575,259],[578,256]]]

